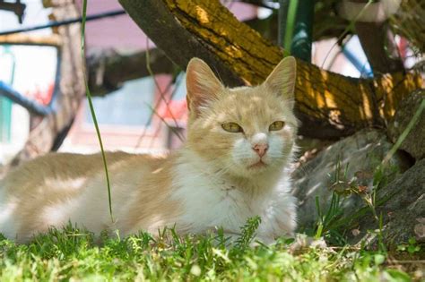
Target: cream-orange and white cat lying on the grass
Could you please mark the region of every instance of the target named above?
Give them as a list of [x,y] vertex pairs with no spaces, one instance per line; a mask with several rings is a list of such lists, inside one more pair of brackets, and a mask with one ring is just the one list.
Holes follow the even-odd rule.
[[257,239],[292,235],[296,199],[288,167],[296,148],[296,61],[284,58],[264,83],[226,88],[199,58],[186,69],[186,144],[167,157],[107,152],[113,220],[100,154],[49,153],[0,181],[0,233],[19,243],[69,222],[103,230],[238,235],[260,216]]

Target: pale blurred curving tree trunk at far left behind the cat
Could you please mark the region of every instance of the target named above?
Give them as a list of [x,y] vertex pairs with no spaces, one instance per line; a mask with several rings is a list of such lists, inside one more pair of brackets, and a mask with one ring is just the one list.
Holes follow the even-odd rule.
[[[53,14],[57,20],[79,16],[74,3],[68,0],[56,0]],[[61,46],[58,48],[56,80],[56,100],[53,101],[54,112],[44,117],[37,116],[36,125],[30,131],[30,137],[24,148],[13,159],[12,165],[34,158],[55,149],[63,139],[74,120],[75,113],[84,98],[83,62],[81,58],[80,24],[62,26],[57,29]]]

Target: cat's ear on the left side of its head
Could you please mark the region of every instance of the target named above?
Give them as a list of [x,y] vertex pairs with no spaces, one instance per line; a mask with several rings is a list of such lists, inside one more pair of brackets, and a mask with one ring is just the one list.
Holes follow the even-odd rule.
[[186,69],[186,99],[190,111],[198,112],[200,107],[215,98],[223,88],[208,64],[199,58],[190,60]]

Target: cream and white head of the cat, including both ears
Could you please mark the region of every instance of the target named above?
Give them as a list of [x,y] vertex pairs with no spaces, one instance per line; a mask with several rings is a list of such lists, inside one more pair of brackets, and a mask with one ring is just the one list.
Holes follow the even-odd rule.
[[282,169],[297,132],[293,114],[296,61],[282,60],[256,87],[229,89],[201,59],[186,71],[187,146],[232,175],[255,177]]

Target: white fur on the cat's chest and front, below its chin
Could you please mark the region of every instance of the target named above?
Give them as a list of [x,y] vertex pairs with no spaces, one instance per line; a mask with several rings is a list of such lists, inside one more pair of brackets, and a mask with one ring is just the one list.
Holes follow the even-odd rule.
[[174,188],[172,197],[183,203],[178,229],[203,233],[222,227],[228,234],[239,234],[247,218],[260,216],[257,235],[269,243],[273,237],[291,235],[296,226],[296,201],[289,194],[284,171],[272,171],[251,179],[247,186],[236,186],[195,152],[184,150]]

